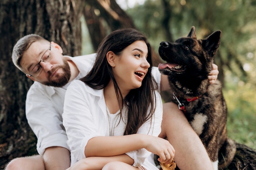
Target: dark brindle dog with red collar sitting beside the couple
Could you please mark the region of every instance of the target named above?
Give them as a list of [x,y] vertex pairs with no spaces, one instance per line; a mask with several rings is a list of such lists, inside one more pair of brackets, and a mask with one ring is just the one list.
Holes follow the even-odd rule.
[[[216,31],[205,39],[197,39],[193,26],[187,37],[175,43],[163,41],[159,46],[160,57],[170,63],[160,64],[159,70],[168,75],[171,94],[177,96],[181,107],[184,104],[184,114],[207,149],[214,169],[227,167],[236,153],[234,141],[227,137],[222,85],[218,80],[214,84],[208,80],[220,37],[221,31]],[[179,104],[175,98],[173,101]]]

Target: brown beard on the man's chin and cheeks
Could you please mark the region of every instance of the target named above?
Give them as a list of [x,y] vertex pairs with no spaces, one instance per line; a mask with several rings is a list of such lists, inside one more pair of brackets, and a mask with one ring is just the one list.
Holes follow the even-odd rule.
[[[68,81],[70,80],[70,77],[71,77],[70,66],[67,63],[67,60],[63,59],[63,62],[64,62],[64,64],[58,66],[58,68],[56,68],[56,69],[62,69],[64,73],[61,75],[58,75],[56,77],[57,80],[50,80],[50,77],[52,76],[53,72],[49,72],[48,81],[43,82],[44,85],[54,86],[54,87],[62,87],[68,83]],[[56,71],[56,69],[54,71]]]

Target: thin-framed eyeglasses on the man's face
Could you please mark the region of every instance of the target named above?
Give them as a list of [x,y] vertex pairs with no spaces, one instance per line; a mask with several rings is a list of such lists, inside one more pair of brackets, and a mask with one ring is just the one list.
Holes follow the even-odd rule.
[[41,57],[39,63],[37,63],[37,64],[34,66],[34,68],[31,70],[31,72],[28,74],[29,77],[31,77],[31,76],[33,76],[33,77],[39,76],[39,74],[40,74],[40,73],[42,72],[42,70],[43,70],[43,68],[41,67],[40,63],[41,63],[41,61],[43,61],[43,62],[48,62],[48,61],[50,61],[50,60],[52,59],[52,56],[51,56],[50,53],[51,53],[51,43],[50,43],[50,48],[49,48],[48,50],[46,50],[46,51],[43,53],[43,55],[42,55],[42,57]]

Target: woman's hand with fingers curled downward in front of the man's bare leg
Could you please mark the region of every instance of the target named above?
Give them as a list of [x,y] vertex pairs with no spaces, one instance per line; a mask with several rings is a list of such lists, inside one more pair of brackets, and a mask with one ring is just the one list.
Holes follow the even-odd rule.
[[158,161],[166,164],[171,163],[174,158],[175,150],[168,140],[161,137],[147,135],[145,137],[145,149],[155,155],[158,155]]

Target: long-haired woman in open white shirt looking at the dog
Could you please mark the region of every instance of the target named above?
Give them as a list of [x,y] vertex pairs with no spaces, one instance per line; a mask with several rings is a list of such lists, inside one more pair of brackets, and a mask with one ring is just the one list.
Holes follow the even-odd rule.
[[151,153],[172,161],[173,147],[157,137],[162,102],[151,68],[150,45],[135,29],[102,41],[92,70],[66,92],[63,125],[71,156],[80,160],[70,169],[157,170],[146,159]]

